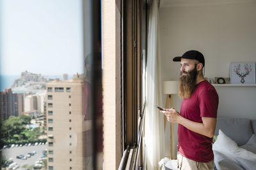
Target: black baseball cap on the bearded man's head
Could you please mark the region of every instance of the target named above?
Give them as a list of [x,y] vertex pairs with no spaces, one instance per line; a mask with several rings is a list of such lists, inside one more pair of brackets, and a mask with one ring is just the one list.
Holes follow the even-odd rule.
[[204,55],[196,50],[189,50],[188,52],[184,53],[181,57],[174,57],[172,60],[180,61],[181,58],[198,60],[203,64],[204,67]]

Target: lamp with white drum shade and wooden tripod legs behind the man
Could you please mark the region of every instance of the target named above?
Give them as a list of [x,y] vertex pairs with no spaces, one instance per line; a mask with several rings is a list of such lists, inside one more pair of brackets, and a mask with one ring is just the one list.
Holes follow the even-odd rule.
[[[165,108],[173,107],[173,94],[179,92],[179,81],[163,81],[163,94],[166,94]],[[166,127],[166,117],[164,117],[164,131]],[[171,159],[175,159],[174,148],[174,132],[173,123],[170,124],[170,143],[171,143]]]

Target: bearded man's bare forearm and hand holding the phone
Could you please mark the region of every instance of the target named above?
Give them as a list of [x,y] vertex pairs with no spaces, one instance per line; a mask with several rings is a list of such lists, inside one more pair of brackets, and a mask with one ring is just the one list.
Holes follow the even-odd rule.
[[190,131],[202,134],[209,138],[214,136],[215,127],[216,127],[216,118],[212,117],[202,117],[202,123],[193,122],[180,116],[180,114],[175,109],[161,111],[166,115],[167,120],[172,123],[177,123],[188,128]]

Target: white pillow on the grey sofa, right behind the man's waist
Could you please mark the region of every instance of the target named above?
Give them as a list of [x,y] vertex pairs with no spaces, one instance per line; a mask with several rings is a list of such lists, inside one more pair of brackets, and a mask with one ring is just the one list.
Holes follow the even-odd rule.
[[240,157],[247,160],[256,161],[256,154],[239,148],[236,142],[228,138],[221,130],[219,130],[219,135],[214,144],[212,145],[212,150],[216,150],[223,155],[226,155],[230,159],[236,162],[236,157]]

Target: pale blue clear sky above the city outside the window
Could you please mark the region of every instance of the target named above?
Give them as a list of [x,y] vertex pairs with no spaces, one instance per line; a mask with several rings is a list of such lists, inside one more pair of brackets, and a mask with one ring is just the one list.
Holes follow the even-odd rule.
[[83,73],[82,0],[0,0],[0,74]]

